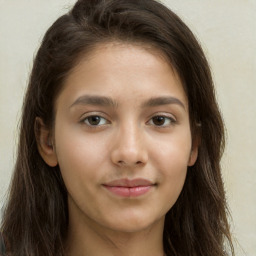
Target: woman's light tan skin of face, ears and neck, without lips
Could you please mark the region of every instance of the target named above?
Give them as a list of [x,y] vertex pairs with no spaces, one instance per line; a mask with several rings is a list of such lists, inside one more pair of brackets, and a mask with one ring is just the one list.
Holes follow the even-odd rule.
[[[84,96],[113,104],[88,104]],[[156,97],[172,100],[153,104]],[[165,215],[197,158],[188,100],[173,68],[156,50],[101,45],[71,71],[55,107],[54,131],[38,119],[38,148],[48,165],[59,164],[67,187],[68,254],[163,255]],[[137,197],[103,186],[123,178],[153,185]]]

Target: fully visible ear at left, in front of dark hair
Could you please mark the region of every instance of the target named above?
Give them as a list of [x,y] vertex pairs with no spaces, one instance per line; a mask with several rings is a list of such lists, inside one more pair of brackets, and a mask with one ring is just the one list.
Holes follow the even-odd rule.
[[34,125],[37,148],[43,160],[51,167],[58,164],[57,155],[53,145],[53,137],[42,118],[36,117]]

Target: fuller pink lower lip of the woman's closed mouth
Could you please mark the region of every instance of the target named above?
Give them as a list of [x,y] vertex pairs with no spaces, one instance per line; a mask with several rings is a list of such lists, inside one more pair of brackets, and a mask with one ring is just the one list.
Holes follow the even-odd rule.
[[121,197],[138,197],[146,194],[152,189],[152,186],[138,186],[138,187],[110,187],[104,186],[108,191]]

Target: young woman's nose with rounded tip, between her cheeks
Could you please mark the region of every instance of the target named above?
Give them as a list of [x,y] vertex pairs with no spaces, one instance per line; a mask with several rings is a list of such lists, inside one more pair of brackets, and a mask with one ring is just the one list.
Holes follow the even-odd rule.
[[120,167],[145,165],[148,161],[148,152],[143,138],[142,129],[135,125],[120,128],[114,139],[112,162]]

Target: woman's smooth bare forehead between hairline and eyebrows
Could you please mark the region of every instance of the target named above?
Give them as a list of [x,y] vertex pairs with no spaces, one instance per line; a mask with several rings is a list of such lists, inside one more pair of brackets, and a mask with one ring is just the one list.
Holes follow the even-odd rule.
[[[181,80],[159,50],[141,44],[112,42],[100,44],[81,56],[64,83],[66,95],[163,96],[178,94],[187,105]],[[159,95],[157,95],[159,94]],[[151,95],[151,96],[150,96]]]

